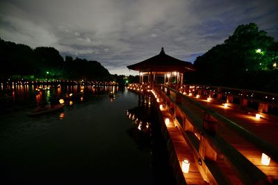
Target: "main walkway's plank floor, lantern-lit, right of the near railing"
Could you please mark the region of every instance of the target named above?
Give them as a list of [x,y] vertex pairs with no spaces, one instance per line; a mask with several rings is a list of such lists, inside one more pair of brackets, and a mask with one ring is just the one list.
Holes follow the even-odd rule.
[[[198,98],[194,99],[209,109],[218,112],[218,114],[229,118],[231,121],[234,121],[234,123],[244,127],[246,130],[256,134],[259,138],[267,141],[273,146],[278,146],[278,123],[275,121],[266,120],[264,118],[257,120],[254,114],[248,114],[247,112],[233,109],[231,107],[224,108],[223,105],[219,105],[218,103],[207,102],[206,100]],[[278,179],[278,164],[270,159],[270,165],[263,166],[261,164],[262,153],[256,148],[256,146],[254,146],[254,144],[245,141],[242,137],[238,136],[238,134],[220,124],[218,124],[218,134],[249,159],[257,168],[263,171],[263,173],[265,173],[270,179]]]

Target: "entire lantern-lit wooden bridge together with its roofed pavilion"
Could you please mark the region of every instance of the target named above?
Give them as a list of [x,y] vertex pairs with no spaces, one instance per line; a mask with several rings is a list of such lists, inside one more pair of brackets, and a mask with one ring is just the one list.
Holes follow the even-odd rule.
[[128,89],[156,107],[178,184],[278,184],[278,94],[183,85],[194,68],[163,49],[128,68],[140,73]]

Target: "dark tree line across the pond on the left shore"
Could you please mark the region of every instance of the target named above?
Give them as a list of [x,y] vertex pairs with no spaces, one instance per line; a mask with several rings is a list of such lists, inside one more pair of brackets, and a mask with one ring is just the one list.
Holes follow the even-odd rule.
[[72,58],[65,60],[53,47],[31,49],[24,44],[0,38],[2,80],[8,78],[48,78],[72,80],[111,80],[111,74],[97,61]]

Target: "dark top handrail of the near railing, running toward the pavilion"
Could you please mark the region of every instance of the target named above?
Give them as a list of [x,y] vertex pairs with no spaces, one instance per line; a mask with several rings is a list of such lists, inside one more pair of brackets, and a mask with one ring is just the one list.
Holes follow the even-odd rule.
[[167,87],[163,85],[163,87],[169,88],[171,91],[174,91],[176,94],[179,94],[186,100],[190,101],[193,105],[197,106],[199,109],[202,109],[203,111],[207,112],[213,118],[215,118],[216,121],[219,121],[222,123],[222,125],[229,127],[234,132],[240,134],[243,138],[247,139],[251,143],[253,143],[255,146],[257,146],[262,152],[264,152],[266,155],[268,155],[271,159],[278,162],[278,148],[275,146],[270,145],[270,143],[264,141],[263,139],[259,138],[252,132],[246,130],[244,127],[241,127],[240,125],[234,123],[234,121],[229,120],[228,118],[218,114],[217,112],[212,111],[211,109],[208,109],[207,107],[204,107],[201,103],[198,103],[197,101],[193,100],[192,98],[188,98],[181,94],[179,91],[172,89],[171,87]]

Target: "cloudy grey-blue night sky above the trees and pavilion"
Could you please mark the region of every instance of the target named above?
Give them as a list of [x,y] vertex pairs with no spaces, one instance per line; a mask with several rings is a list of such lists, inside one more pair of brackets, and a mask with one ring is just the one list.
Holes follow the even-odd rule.
[[278,39],[278,1],[1,0],[0,37],[53,46],[60,54],[101,62],[111,73],[157,55],[194,62],[254,22]]

